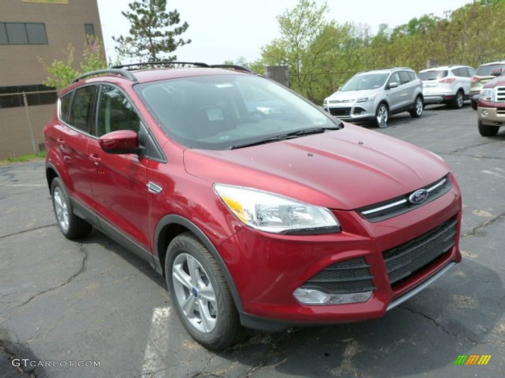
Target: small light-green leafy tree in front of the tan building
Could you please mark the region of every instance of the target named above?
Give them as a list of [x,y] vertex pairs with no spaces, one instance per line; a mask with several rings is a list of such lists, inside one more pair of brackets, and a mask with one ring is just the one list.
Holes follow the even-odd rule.
[[[91,36],[88,36],[91,38]],[[75,61],[75,47],[72,44],[67,46],[63,52],[63,60],[55,59],[50,65],[42,58],[38,58],[49,76],[42,84],[48,87],[65,88],[76,77],[91,71],[103,70],[107,68],[107,59],[105,58],[102,44],[98,38],[92,37],[93,43],[84,43],[84,52],[78,62]]]

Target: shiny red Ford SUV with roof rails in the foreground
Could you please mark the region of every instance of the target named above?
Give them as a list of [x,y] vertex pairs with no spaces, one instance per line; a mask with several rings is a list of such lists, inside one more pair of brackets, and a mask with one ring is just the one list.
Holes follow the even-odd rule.
[[164,274],[207,348],[382,317],[461,261],[438,156],[241,67],[145,67],[62,92],[47,183],[63,234],[96,227]]

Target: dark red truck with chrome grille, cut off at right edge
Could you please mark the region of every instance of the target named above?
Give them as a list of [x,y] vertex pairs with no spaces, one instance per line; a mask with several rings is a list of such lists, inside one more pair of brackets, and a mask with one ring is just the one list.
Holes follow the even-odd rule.
[[483,137],[492,137],[505,124],[505,76],[484,84],[477,107],[477,125]]

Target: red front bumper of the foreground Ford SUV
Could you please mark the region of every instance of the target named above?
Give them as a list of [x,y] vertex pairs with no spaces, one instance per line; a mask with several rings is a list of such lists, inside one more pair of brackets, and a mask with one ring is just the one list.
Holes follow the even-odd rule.
[[[342,224],[340,233],[287,236],[244,227],[220,245],[220,254],[227,262],[241,298],[240,316],[244,326],[275,331],[296,325],[380,318],[388,309],[438,278],[447,267],[461,261],[461,196],[456,182],[437,200],[384,221],[372,223],[354,211],[334,213]],[[447,222],[453,222],[454,244],[392,284],[386,253],[423,240]],[[420,258],[422,254],[419,249]],[[293,296],[294,290],[328,267],[357,259],[364,259],[369,266],[373,293],[367,301],[306,305]]]

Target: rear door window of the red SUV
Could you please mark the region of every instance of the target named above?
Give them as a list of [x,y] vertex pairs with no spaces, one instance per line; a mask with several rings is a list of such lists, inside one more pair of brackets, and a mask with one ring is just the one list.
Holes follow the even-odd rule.
[[78,88],[70,108],[69,124],[86,134],[94,134],[93,115],[96,97],[96,86]]

